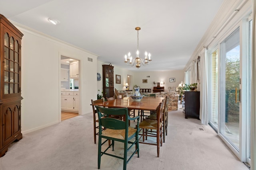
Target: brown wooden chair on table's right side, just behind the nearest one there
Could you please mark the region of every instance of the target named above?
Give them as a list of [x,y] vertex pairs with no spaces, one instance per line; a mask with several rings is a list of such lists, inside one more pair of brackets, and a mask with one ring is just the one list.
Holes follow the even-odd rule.
[[[168,102],[169,97],[166,96],[164,100],[164,108],[162,109],[162,119],[163,119],[163,142],[165,143],[165,136],[167,136],[168,129]],[[156,112],[152,112],[147,119],[156,120]]]

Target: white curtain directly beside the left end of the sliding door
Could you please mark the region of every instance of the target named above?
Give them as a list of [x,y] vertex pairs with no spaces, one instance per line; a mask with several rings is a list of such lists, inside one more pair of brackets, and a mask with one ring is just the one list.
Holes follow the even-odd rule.
[[201,123],[208,125],[208,95],[207,95],[207,64],[206,49],[200,51],[200,119]]

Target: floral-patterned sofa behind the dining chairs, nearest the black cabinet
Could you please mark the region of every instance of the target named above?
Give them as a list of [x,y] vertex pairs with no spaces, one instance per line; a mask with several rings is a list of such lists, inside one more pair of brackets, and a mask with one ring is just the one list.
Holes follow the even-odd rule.
[[168,102],[168,110],[178,110],[178,100],[179,96],[176,92],[158,92],[156,93],[156,97],[163,97],[169,96]]

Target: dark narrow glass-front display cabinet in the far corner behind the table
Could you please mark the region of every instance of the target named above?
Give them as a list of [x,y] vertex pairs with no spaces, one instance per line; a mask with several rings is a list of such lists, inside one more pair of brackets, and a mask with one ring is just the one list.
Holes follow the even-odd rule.
[[114,96],[114,66],[102,65],[103,96],[110,98]]

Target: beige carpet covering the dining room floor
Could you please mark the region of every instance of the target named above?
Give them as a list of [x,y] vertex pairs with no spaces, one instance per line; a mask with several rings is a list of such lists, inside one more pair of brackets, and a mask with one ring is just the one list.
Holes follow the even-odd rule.
[[[0,170],[96,170],[98,145],[92,127],[92,114],[88,114],[25,134],[0,158]],[[114,152],[121,154],[122,147],[116,143]],[[122,166],[122,160],[102,156],[100,169],[122,170]],[[169,112],[160,158],[156,146],[140,144],[140,158],[135,155],[127,169],[248,170],[210,126],[185,119],[181,109]]]

